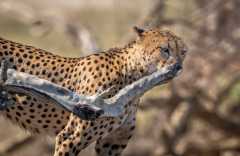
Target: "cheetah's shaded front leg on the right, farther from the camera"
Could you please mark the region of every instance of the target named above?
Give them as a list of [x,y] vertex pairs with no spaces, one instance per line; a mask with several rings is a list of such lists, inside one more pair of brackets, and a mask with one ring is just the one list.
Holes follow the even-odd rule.
[[120,156],[132,137],[135,129],[135,114],[128,117],[125,123],[108,136],[97,140],[97,156]]

